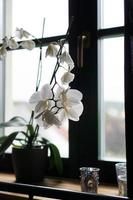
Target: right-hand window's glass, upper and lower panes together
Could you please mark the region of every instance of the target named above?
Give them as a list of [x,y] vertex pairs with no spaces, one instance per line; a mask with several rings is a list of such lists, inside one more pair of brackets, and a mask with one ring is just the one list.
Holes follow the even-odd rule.
[[99,157],[104,160],[124,161],[124,33],[120,32],[124,25],[124,0],[99,0],[98,12]]

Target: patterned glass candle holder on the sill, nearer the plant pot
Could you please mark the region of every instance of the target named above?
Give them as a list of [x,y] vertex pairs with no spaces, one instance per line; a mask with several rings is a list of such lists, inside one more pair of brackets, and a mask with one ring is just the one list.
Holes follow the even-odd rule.
[[96,167],[80,168],[80,183],[82,192],[98,192],[99,170],[100,169]]

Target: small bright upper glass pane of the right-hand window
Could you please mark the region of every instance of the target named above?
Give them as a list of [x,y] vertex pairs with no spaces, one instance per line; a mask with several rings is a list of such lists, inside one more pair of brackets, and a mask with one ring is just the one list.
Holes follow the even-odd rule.
[[124,25],[124,0],[98,0],[99,28]]

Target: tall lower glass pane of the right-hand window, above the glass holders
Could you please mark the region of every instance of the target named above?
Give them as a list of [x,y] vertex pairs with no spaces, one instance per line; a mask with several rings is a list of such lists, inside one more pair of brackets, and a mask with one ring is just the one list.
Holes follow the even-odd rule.
[[124,38],[101,42],[99,78],[101,157],[125,159]]

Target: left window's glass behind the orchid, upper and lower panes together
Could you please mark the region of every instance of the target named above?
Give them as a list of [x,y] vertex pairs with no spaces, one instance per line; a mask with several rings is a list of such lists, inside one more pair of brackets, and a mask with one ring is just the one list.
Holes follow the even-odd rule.
[[[8,24],[8,26],[6,26],[5,35],[14,35],[16,28],[22,27],[32,33],[35,38],[41,38],[44,18],[44,38],[51,38],[52,41],[53,37],[63,37],[68,29],[68,0],[57,0],[54,2],[39,0],[39,3],[31,0],[28,2],[26,0],[12,0],[7,1],[5,7],[6,24]],[[29,11],[30,7],[31,9]],[[8,8],[10,8],[9,11]],[[35,14],[36,12],[38,13],[37,15]],[[60,16],[62,16],[62,18],[60,18]],[[45,50],[46,47],[43,47],[43,55],[45,55]],[[34,49],[32,52],[27,52],[26,50],[8,52],[5,74],[5,120],[9,120],[13,116],[18,116],[20,113],[25,119],[30,119],[28,100],[35,91],[38,61],[38,48]],[[54,67],[54,64],[55,60],[51,62],[51,59],[47,59],[43,62],[41,85],[50,81],[53,71],[52,66]],[[47,70],[48,68],[49,70]],[[6,134],[8,134],[8,132],[11,132],[11,128],[6,128]],[[41,132],[44,134],[44,130],[41,130]],[[60,130],[56,128],[45,130],[45,137],[57,144],[62,157],[68,157],[69,143],[67,121],[62,125],[62,129]]]

